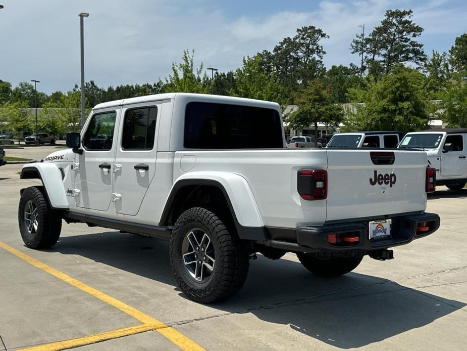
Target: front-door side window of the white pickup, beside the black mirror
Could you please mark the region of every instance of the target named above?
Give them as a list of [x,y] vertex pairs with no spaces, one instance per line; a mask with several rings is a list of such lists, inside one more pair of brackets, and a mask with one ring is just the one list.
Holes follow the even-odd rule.
[[112,149],[116,117],[115,111],[93,115],[84,133],[83,147],[86,150]]

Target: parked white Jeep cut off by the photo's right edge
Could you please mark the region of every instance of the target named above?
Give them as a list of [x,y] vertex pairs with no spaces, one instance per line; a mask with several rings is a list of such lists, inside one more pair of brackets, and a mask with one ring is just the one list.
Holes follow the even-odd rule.
[[461,190],[467,183],[467,128],[438,128],[407,133],[400,149],[423,149],[436,168],[436,185]]

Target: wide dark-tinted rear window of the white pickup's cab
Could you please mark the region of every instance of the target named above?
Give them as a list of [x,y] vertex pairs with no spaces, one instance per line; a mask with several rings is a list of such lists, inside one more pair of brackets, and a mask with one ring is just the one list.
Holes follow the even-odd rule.
[[283,148],[276,110],[241,105],[190,102],[185,110],[183,146],[187,149]]

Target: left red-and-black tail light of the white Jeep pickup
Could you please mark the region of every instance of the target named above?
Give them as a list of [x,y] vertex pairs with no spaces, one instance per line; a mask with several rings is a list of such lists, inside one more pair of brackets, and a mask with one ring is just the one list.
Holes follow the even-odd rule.
[[322,169],[301,169],[297,176],[297,191],[305,200],[324,200],[328,197],[328,172]]

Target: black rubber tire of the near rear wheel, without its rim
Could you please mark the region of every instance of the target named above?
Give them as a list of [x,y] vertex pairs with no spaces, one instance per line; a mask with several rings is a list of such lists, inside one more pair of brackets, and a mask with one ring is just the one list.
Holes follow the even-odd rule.
[[[214,270],[205,282],[194,280],[185,268],[182,244],[194,228],[202,229],[211,239],[216,261]],[[180,289],[191,300],[201,303],[217,302],[235,295],[248,274],[249,255],[245,242],[234,229],[212,211],[193,207],[183,212],[175,223],[170,237],[170,265]]]

